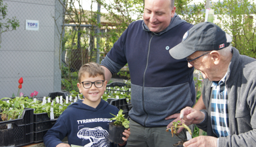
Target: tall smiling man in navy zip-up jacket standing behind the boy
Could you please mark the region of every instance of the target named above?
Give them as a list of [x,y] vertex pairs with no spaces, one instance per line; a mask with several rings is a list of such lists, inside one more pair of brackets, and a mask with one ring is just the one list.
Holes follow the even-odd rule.
[[[180,139],[165,132],[176,119],[167,117],[195,104],[194,69],[187,67],[186,59],[176,60],[168,53],[193,26],[175,10],[174,0],[145,0],[143,20],[132,22],[101,61],[107,81],[126,63],[129,66],[132,109],[127,146],[172,146]],[[180,138],[186,138],[184,131]]]

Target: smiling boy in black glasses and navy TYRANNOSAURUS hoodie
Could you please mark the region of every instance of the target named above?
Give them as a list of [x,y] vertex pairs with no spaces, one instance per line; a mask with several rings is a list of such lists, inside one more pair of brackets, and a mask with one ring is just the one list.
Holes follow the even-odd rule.
[[[106,89],[104,69],[97,63],[82,65],[78,73],[78,88],[84,99],[72,103],[44,136],[45,146],[116,146],[108,141],[109,119],[118,108],[101,99]],[[124,146],[130,129],[124,131]],[[61,142],[68,136],[68,144]]]

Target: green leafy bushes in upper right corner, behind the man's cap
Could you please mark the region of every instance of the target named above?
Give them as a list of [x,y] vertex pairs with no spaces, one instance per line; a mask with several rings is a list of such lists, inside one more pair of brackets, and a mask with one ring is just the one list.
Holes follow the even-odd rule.
[[256,58],[256,3],[250,0],[224,0],[213,3],[214,23],[232,36],[232,46],[242,55]]

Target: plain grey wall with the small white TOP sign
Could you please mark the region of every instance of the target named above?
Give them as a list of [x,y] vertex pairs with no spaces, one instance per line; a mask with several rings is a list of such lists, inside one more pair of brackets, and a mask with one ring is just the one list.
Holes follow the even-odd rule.
[[57,30],[63,22],[59,17],[63,7],[59,1],[4,0],[3,5],[7,16],[2,15],[0,22],[16,19],[20,26],[7,32],[1,28],[0,98],[17,96],[21,77],[20,92],[26,96],[34,90],[38,96],[61,90]]

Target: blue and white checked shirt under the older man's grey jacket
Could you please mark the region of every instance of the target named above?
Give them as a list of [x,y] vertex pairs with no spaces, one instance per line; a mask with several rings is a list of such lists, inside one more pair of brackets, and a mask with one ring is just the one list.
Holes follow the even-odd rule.
[[228,122],[228,92],[225,86],[226,75],[220,82],[211,85],[211,126],[217,136],[226,137],[230,134]]

